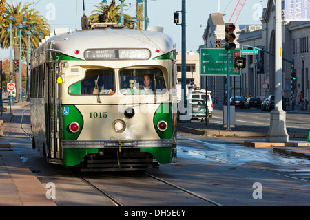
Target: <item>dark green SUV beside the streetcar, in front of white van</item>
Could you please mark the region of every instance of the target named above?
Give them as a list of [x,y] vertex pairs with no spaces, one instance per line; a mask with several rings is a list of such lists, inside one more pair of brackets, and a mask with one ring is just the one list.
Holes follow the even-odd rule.
[[207,111],[207,122],[209,122],[210,115],[207,104],[205,104],[205,100],[193,98],[189,102],[192,103],[192,120],[201,120],[201,122],[205,122],[205,115]]

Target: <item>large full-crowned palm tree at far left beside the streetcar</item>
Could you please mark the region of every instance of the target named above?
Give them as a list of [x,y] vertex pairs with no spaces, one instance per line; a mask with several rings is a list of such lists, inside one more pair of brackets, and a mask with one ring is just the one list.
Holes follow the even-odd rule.
[[[31,48],[37,47],[40,41],[39,33],[41,32],[42,38],[48,36],[50,34],[50,25],[48,25],[46,19],[39,15],[39,12],[35,9],[30,9],[30,3],[25,3],[25,5],[21,5],[20,3],[16,3],[16,5],[8,5],[6,6],[6,12],[3,14],[5,22],[0,27],[0,44],[2,49],[8,49],[10,47],[10,33],[7,31],[9,23],[12,23],[12,45],[14,48],[14,59],[19,59],[19,53],[21,56],[28,56],[28,30],[33,29],[34,31],[30,35]],[[13,19],[10,19],[10,16]],[[22,23],[23,17],[25,17],[27,23],[23,25],[21,29],[21,48],[22,51],[19,51],[19,24]],[[19,95],[19,72],[15,74],[15,82],[17,87],[17,96]]]

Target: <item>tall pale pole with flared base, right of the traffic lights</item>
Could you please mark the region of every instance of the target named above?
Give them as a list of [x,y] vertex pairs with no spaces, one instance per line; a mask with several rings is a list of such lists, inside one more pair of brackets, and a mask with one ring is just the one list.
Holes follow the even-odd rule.
[[270,126],[267,142],[288,142],[289,135],[285,126],[285,111],[282,110],[282,7],[281,0],[276,6],[276,53],[275,53],[275,109],[270,113]]

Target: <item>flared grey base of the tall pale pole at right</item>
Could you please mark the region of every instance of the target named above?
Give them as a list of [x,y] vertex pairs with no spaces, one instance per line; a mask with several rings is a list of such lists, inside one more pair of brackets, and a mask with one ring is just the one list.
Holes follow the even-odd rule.
[[270,113],[270,126],[266,136],[267,142],[289,142],[285,126],[285,111],[273,110]]

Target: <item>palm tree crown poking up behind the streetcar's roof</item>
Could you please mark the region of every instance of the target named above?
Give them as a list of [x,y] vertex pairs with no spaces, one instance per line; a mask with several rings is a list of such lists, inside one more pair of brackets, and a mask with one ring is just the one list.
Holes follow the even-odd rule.
[[[105,12],[105,10],[109,8],[109,5],[103,6],[103,3],[100,3],[99,6],[95,7],[97,8],[97,10],[92,11],[92,15],[90,15],[90,17],[88,18],[90,19],[91,22],[98,22],[99,14],[103,14],[103,12]],[[109,10],[109,18],[107,22],[118,23],[120,18],[121,18],[121,5],[112,5],[112,7]],[[132,17],[130,15],[124,14],[124,25],[128,28],[130,28],[130,26],[132,25],[132,21],[130,21],[131,19]]]

